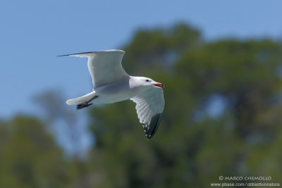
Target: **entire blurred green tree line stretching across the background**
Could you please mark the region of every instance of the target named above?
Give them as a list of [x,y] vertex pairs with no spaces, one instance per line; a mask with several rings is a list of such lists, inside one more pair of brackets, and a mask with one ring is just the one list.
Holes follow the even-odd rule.
[[[123,49],[128,73],[166,85],[157,134],[145,139],[132,101],[92,107],[95,144],[77,158],[63,155],[50,121],[2,120],[0,187],[210,187],[219,175],[281,180],[281,42],[204,42],[200,31],[178,24],[140,30]],[[49,114],[75,126],[51,101]]]

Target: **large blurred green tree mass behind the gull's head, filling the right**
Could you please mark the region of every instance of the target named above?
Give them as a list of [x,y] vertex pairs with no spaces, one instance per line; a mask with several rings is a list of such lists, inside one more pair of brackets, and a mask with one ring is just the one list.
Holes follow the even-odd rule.
[[[125,70],[166,85],[166,106],[149,141],[133,102],[92,108],[100,186],[209,187],[219,175],[279,180],[281,44],[204,43],[197,30],[176,25],[137,32],[124,49]],[[216,117],[207,111],[214,95],[224,109]]]

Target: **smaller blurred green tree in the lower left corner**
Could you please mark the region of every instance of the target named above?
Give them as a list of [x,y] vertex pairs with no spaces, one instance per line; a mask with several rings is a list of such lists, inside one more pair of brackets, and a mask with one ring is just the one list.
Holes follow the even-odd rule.
[[1,122],[0,135],[0,187],[65,187],[62,150],[37,118]]

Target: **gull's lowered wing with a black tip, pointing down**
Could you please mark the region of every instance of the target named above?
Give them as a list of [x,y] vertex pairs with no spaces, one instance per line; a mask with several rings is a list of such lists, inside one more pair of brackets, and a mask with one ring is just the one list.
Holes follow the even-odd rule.
[[131,98],[136,103],[136,111],[147,139],[157,132],[164,111],[164,92],[160,87],[152,87]]

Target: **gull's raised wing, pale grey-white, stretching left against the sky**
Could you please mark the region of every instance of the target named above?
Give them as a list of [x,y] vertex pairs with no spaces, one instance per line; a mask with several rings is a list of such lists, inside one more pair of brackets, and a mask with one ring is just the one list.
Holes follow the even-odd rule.
[[63,56],[78,56],[80,58],[88,58],[88,69],[92,77],[94,89],[104,84],[117,82],[128,74],[123,69],[121,61],[125,51],[122,50],[106,50],[92,51],[80,54],[68,54]]

